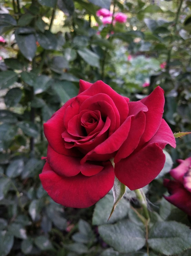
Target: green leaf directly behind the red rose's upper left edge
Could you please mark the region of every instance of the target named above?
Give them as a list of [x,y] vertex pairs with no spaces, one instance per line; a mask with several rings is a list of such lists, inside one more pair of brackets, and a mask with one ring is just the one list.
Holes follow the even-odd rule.
[[52,89],[63,103],[78,95],[78,88],[73,83],[59,80],[54,81]]

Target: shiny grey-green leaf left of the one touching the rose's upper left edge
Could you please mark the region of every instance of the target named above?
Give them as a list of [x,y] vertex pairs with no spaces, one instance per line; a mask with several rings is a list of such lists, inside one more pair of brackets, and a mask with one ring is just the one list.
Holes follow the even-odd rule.
[[39,93],[42,93],[43,91],[46,91],[50,86],[50,79],[51,78],[46,75],[38,76],[33,85],[34,94],[39,94]]

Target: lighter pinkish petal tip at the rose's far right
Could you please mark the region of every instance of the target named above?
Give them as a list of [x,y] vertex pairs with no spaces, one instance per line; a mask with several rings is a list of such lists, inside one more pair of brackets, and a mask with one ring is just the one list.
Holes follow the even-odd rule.
[[159,126],[159,130],[155,133],[149,143],[157,142],[159,146],[163,149],[165,145],[170,144],[171,147],[176,147],[176,141],[174,138],[174,134],[172,133],[169,125],[162,119],[161,124]]

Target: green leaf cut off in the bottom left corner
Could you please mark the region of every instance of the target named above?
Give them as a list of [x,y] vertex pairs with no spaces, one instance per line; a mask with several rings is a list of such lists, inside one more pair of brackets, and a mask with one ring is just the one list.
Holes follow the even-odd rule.
[[9,232],[1,231],[0,232],[0,256],[6,256],[10,253],[11,248],[13,247],[14,236],[10,235]]

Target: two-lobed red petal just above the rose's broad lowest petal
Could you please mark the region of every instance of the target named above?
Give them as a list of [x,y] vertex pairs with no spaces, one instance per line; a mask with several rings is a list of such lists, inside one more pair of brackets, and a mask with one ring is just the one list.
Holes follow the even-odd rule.
[[103,170],[103,166],[99,162],[97,165],[86,162],[84,165],[80,164],[81,158],[70,157],[57,153],[50,145],[47,150],[47,162],[49,163],[52,170],[54,170],[60,176],[75,176],[81,173],[86,176],[92,176]]

